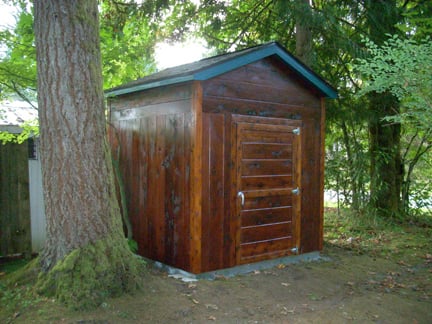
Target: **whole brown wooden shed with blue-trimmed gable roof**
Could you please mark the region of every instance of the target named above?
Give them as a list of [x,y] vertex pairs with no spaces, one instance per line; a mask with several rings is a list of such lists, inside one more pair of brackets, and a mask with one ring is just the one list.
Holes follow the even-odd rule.
[[202,273],[323,244],[325,98],[276,42],[107,92],[139,254]]

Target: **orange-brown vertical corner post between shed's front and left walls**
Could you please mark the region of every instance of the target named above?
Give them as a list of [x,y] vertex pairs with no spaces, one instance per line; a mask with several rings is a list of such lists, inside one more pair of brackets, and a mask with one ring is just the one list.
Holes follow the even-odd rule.
[[198,81],[192,85],[190,134],[190,271],[192,273],[200,273],[202,236],[202,87]]

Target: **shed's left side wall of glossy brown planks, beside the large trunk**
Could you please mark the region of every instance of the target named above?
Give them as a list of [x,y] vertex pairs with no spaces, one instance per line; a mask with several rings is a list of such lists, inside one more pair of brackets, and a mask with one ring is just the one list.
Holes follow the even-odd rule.
[[190,270],[191,85],[110,99],[138,252]]

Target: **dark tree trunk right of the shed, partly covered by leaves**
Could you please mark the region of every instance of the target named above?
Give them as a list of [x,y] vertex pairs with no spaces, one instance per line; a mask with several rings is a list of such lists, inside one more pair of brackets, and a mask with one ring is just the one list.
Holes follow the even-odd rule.
[[[387,34],[397,32],[400,16],[395,0],[367,0],[369,37],[382,44]],[[369,96],[369,135],[371,156],[371,205],[381,216],[396,216],[401,210],[402,162],[400,155],[401,127],[383,120],[399,112],[399,102],[390,93]]]

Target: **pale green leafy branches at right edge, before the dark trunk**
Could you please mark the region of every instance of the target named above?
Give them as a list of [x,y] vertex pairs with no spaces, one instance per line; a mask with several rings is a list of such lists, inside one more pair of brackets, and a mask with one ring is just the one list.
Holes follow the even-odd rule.
[[431,39],[417,42],[389,35],[383,46],[368,39],[364,43],[371,57],[359,59],[356,66],[366,80],[359,95],[389,91],[404,109],[386,119],[428,130],[432,122]]

